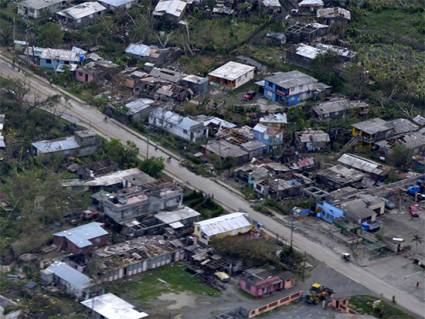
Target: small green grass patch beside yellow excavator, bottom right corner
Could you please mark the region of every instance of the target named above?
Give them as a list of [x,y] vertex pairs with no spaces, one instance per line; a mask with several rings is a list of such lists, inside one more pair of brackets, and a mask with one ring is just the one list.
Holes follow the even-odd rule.
[[[361,314],[377,316],[378,311],[374,309],[373,302],[379,298],[373,296],[354,296],[349,300],[350,306]],[[402,311],[399,307],[388,302],[382,301],[383,319],[413,319],[414,317]]]

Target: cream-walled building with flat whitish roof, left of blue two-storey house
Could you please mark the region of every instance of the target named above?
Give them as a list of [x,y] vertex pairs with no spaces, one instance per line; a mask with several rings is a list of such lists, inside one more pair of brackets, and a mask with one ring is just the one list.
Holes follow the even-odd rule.
[[208,73],[210,82],[218,83],[229,89],[236,89],[251,81],[255,75],[255,67],[229,61],[218,69]]

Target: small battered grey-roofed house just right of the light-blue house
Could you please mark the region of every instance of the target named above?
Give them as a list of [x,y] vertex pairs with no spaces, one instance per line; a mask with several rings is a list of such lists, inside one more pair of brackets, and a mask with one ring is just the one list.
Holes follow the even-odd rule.
[[295,144],[301,152],[323,151],[330,141],[329,134],[322,130],[306,129],[295,133]]

